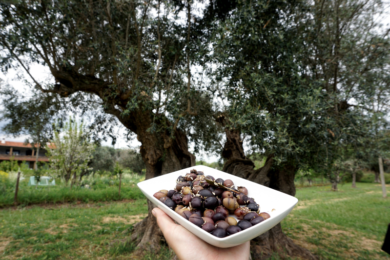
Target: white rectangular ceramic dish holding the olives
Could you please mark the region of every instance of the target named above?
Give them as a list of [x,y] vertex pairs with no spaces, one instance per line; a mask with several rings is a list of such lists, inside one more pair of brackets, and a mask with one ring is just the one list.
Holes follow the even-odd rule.
[[[163,202],[153,197],[153,194],[159,190],[173,190],[173,188],[176,186],[176,179],[180,175],[184,176],[185,174],[189,173],[191,169],[203,171],[205,175],[211,175],[215,179],[222,178],[224,180],[232,180],[235,187],[246,187],[248,190],[248,197],[253,198],[256,203],[260,205],[260,212],[267,212],[271,217],[234,235],[228,236],[226,238],[217,238],[207,233],[202,228],[194,225],[190,221],[185,220],[179,214],[164,205]],[[151,200],[173,220],[184,226],[187,230],[200,239],[205,240],[207,243],[223,248],[245,243],[246,241],[254,239],[255,237],[263,234],[286,218],[288,213],[290,213],[290,211],[298,203],[298,199],[295,197],[204,165],[197,165],[153,179],[144,180],[139,182],[137,185],[144,193],[146,198]],[[234,214],[230,214],[230,217],[234,217]]]

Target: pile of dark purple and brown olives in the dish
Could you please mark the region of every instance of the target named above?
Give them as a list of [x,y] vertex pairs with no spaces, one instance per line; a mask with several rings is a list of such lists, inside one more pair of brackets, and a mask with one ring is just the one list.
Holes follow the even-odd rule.
[[[173,190],[161,190],[153,196],[218,238],[233,235],[270,217],[266,212],[259,213],[259,204],[248,197],[245,187],[235,188],[231,180],[215,180],[195,169],[179,176]],[[239,221],[229,214],[234,214]]]

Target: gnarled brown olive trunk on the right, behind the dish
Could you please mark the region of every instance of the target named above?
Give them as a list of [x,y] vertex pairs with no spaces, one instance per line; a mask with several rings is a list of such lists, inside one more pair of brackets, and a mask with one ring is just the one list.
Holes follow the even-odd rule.
[[[226,160],[223,172],[251,180],[272,189],[295,195],[294,176],[296,168],[285,165],[281,169],[275,169],[272,156],[268,156],[263,167],[254,170],[252,160],[246,158],[240,131],[226,129],[226,143],[223,151]],[[308,249],[295,244],[282,231],[281,224],[268,230],[266,233],[250,241],[250,250],[253,260],[266,260],[272,258],[277,252],[279,256],[300,257],[301,259],[317,260]]]

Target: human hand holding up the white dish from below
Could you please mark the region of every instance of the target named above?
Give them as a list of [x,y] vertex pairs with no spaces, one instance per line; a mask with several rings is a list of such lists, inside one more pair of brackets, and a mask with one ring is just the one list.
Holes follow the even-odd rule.
[[154,208],[153,216],[164,234],[166,242],[180,260],[248,260],[249,241],[229,248],[220,248],[201,240],[183,226],[178,225],[159,208]]

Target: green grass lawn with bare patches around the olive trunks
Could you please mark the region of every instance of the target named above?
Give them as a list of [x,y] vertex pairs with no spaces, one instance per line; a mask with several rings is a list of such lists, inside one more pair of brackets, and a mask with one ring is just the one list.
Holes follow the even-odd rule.
[[[284,231],[323,260],[390,260],[380,250],[390,199],[381,198],[378,184],[357,186],[298,188]],[[146,214],[145,199],[0,209],[0,259],[132,259],[126,230]],[[162,247],[144,260],[170,256]]]

